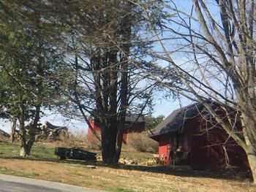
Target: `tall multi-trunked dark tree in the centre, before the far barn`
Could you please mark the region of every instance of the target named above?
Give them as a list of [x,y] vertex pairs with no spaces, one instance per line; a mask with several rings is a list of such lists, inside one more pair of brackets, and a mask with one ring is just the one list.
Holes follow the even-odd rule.
[[[65,7],[65,6],[64,6]],[[68,114],[101,128],[102,160],[118,162],[127,112],[141,113],[156,83],[138,65],[148,65],[148,45],[138,36],[139,9],[129,1],[87,1],[67,7],[67,68],[63,86]],[[79,10],[75,7],[79,7]],[[63,9],[62,9],[63,11]],[[141,11],[141,10],[140,10]],[[145,22],[144,22],[145,23]]]

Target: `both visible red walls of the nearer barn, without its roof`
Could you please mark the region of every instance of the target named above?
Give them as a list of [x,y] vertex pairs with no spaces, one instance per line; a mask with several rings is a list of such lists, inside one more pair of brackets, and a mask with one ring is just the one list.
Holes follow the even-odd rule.
[[[165,164],[170,164],[170,140],[175,134],[163,134],[154,138],[159,142],[159,157],[163,156]],[[244,150],[228,139],[227,133],[218,127],[206,124],[202,118],[187,120],[178,134],[178,146],[182,152],[189,153],[189,164],[192,169],[223,169],[227,163],[231,166],[249,168]],[[227,142],[225,149],[221,143]]]

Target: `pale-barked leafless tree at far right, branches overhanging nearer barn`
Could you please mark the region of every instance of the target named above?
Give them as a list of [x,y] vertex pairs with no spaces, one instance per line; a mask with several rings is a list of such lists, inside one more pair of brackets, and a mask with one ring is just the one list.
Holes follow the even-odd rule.
[[[184,10],[181,1],[162,1],[167,14],[161,28],[153,25],[148,4],[140,4],[161,48],[152,55],[165,61],[164,72],[170,67],[174,69],[183,86],[173,88],[165,80],[161,80],[162,84],[203,103],[217,123],[244,149],[256,183],[255,1],[192,0],[186,3],[191,5],[187,6],[190,10]],[[151,78],[160,81],[154,74]],[[208,98],[222,107],[227,121],[204,102]],[[234,119],[230,109],[240,118]],[[238,120],[241,120],[242,132],[234,129]]]

